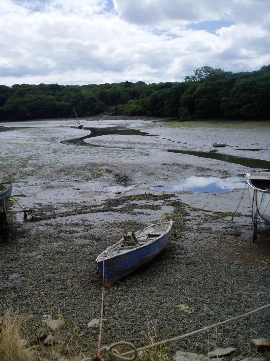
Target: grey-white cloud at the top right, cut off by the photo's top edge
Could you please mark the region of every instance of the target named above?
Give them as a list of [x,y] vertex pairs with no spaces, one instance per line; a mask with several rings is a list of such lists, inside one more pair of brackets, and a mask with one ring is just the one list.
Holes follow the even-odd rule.
[[145,25],[168,20],[261,22],[270,11],[269,0],[114,0],[114,4],[124,20]]

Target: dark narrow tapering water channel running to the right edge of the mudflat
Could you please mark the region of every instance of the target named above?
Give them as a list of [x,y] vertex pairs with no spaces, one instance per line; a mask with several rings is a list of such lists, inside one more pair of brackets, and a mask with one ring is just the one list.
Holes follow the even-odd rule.
[[193,150],[168,149],[167,151],[170,153],[190,154],[201,158],[222,160],[223,162],[240,164],[241,166],[245,166],[249,168],[255,168],[255,169],[262,168],[262,169],[270,170],[270,162],[261,159],[251,159],[251,158],[237,157],[235,155],[229,155],[229,154],[193,151]]

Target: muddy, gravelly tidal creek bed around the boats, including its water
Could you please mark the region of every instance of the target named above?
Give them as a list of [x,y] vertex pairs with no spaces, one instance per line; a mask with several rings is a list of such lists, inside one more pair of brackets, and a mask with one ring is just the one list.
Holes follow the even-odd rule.
[[[105,289],[103,343],[139,347],[149,332],[165,340],[269,303],[270,227],[261,223],[252,243],[244,175],[270,169],[270,121],[81,122],[82,130],[74,119],[0,124],[11,128],[0,132],[0,179],[13,181],[16,200],[12,237],[0,244],[1,314],[12,307],[39,328],[59,308],[96,347],[99,329],[87,323],[101,312],[97,255],[163,219],[174,220],[165,250]],[[269,319],[266,309],[169,350],[231,346],[236,357],[248,340],[270,337]]]

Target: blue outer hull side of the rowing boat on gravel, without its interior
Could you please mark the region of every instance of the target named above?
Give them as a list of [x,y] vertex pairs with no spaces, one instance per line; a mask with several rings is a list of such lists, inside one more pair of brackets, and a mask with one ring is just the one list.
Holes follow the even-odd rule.
[[[168,232],[153,242],[135,248],[121,255],[104,258],[104,283],[109,287],[120,278],[127,276],[137,268],[146,264],[158,255],[167,245],[172,227]],[[101,276],[103,275],[103,259],[97,259]]]

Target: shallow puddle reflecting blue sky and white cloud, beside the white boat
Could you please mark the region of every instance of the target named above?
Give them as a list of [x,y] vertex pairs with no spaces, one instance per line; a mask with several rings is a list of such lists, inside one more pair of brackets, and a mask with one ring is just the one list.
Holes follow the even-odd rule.
[[212,193],[218,194],[231,191],[234,188],[243,188],[245,182],[239,182],[239,179],[216,177],[190,177],[183,183],[169,184],[166,186],[150,187],[157,191],[191,191],[193,193]]

